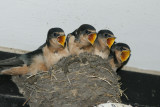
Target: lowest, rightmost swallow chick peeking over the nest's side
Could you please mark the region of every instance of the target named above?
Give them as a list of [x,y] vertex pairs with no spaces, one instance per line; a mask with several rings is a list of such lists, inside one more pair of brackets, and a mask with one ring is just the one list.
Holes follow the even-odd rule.
[[130,47],[125,43],[116,43],[112,46],[108,61],[114,71],[127,64],[131,56]]

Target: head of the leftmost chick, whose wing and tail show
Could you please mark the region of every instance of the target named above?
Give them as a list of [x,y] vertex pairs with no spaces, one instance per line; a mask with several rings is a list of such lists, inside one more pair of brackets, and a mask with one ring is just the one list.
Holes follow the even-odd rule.
[[48,31],[47,35],[47,41],[48,46],[54,47],[54,48],[61,48],[65,47],[66,44],[66,36],[61,28],[51,28]]

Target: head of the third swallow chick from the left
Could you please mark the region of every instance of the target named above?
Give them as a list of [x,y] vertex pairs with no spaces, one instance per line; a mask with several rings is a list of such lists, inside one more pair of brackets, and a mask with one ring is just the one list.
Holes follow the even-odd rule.
[[97,41],[109,49],[114,44],[116,37],[110,30],[100,30],[98,32]]

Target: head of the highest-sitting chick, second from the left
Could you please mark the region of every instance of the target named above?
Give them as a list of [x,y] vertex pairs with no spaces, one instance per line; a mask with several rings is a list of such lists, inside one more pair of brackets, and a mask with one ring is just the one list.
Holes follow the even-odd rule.
[[96,29],[92,25],[83,24],[77,29],[76,38],[84,46],[87,46],[90,44],[93,45],[97,38]]

